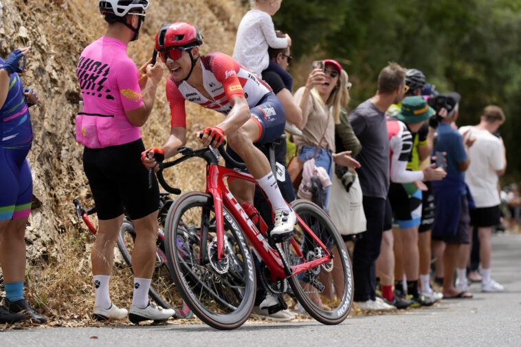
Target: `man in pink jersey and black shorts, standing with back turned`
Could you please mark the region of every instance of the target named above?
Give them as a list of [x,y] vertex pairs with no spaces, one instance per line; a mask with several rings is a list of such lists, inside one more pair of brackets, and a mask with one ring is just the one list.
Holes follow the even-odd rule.
[[[126,46],[139,35],[148,0],[108,0],[99,5],[109,27],[83,50],[76,70],[85,105],[76,117],[76,140],[85,145],[83,168],[99,220],[91,255],[96,290],[93,317],[123,319],[129,313],[133,323],[164,322],[174,311],[148,300],[155,265],[159,186],[155,177],[149,186],[148,171],[140,161],[144,150],[140,126],[151,113],[163,65],[148,61],[137,70],[126,55]],[[141,82],[140,75],[146,75]],[[116,307],[109,296],[114,245],[124,210],[136,230],[130,311]]]

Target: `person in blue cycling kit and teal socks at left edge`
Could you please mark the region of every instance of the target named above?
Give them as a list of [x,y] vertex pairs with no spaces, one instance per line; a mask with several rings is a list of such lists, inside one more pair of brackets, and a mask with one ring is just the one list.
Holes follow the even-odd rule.
[[[0,21],[2,7],[0,3]],[[31,212],[32,175],[27,154],[32,146],[29,107],[38,103],[32,89],[23,89],[19,74],[26,70],[31,47],[15,49],[7,60],[0,58],[0,265],[5,298],[0,305],[0,324],[47,318],[34,312],[23,296],[25,278],[25,225]]]

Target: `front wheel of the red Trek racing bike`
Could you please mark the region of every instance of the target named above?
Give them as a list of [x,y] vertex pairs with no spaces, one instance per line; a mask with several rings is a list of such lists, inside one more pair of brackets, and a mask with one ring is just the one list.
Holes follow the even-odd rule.
[[[166,255],[174,280],[190,309],[206,324],[221,330],[243,324],[255,298],[255,268],[239,225],[225,209],[225,254],[217,259],[213,199],[202,192],[177,198],[165,223]],[[203,240],[201,240],[203,230]],[[201,246],[207,252],[201,254]],[[202,263],[200,257],[206,258]]]

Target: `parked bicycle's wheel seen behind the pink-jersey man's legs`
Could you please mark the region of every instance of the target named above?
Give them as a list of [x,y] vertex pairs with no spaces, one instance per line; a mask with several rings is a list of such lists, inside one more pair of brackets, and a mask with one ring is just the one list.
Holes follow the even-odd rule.
[[[132,269],[131,254],[134,249],[135,230],[130,221],[123,221],[118,235],[118,249],[121,255]],[[167,266],[167,258],[164,251],[156,246],[155,265],[152,275],[151,287],[148,294],[159,305],[166,309],[173,309],[175,317],[190,319],[193,314],[190,308],[181,299],[172,280],[172,274]]]

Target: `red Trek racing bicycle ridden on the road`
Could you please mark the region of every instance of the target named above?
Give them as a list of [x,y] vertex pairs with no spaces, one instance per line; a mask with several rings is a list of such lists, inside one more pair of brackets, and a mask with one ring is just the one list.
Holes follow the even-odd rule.
[[[219,166],[219,153],[234,168],[234,161],[219,147],[179,148],[182,157],[159,164],[157,177],[168,192],[178,193],[164,180],[163,170],[192,157],[206,161],[206,192],[178,197],[165,221],[168,266],[179,293],[206,324],[218,329],[241,326],[250,315],[256,293],[256,267],[267,291],[292,296],[323,324],[342,322],[351,310],[353,276],[348,251],[329,216],[314,203],[298,200],[291,208],[298,215],[293,237],[270,243],[233,195],[226,180],[252,175]],[[287,288],[287,282],[291,290]]]

